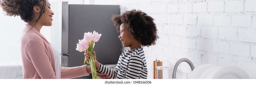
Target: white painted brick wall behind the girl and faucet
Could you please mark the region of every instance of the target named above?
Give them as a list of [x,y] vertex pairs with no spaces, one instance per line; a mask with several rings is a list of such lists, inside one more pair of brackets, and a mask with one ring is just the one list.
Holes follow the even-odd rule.
[[[94,0],[96,5],[120,5],[121,14],[138,9],[155,19],[160,39],[144,47],[148,78],[152,61],[171,66],[188,58],[195,67],[210,63],[239,66],[256,78],[256,0]],[[187,63],[177,78],[188,78]]]

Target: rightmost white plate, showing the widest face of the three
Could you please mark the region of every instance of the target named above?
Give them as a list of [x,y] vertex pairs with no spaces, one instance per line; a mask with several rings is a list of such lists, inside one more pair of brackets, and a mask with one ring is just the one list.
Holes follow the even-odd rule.
[[218,70],[212,79],[250,79],[249,75],[240,67],[226,66]]

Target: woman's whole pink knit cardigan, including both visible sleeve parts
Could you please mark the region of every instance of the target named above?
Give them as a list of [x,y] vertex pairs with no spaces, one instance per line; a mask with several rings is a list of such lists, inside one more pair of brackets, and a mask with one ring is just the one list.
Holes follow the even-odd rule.
[[[31,26],[26,24],[24,30],[29,28]],[[20,42],[23,79],[56,79],[53,51],[45,37],[31,28]],[[60,67],[61,79],[88,76],[86,67]]]

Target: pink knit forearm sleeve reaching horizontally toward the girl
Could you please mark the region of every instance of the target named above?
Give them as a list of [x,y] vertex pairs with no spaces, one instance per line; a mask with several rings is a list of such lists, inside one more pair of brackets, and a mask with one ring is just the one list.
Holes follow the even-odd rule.
[[89,73],[86,69],[87,65],[77,66],[77,67],[60,67],[60,78],[70,79],[82,76],[88,76]]

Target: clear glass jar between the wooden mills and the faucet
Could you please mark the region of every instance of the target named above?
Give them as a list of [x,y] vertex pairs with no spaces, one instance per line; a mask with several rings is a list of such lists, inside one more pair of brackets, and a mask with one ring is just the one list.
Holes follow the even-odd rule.
[[169,66],[157,66],[157,79],[171,79],[171,69]]

